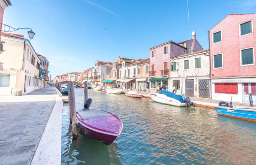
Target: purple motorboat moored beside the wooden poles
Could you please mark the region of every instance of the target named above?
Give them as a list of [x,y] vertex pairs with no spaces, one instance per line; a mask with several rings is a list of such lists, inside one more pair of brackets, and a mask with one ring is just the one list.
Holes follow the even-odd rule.
[[85,101],[83,111],[76,112],[78,126],[88,137],[109,145],[121,134],[123,123],[110,112],[89,109],[91,102],[89,98]]

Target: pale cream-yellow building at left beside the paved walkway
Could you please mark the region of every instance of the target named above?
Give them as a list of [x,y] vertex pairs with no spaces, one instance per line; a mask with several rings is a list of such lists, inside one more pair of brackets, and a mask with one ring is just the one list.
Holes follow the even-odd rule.
[[21,95],[38,88],[40,64],[31,42],[23,35],[2,32],[0,95]]

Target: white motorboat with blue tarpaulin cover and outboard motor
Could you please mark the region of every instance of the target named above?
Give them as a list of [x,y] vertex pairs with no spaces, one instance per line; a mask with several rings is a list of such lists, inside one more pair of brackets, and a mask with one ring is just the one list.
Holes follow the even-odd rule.
[[181,96],[178,94],[173,94],[166,90],[159,90],[157,93],[150,93],[148,95],[154,101],[162,104],[168,104],[172,106],[196,106],[196,104],[191,102],[185,94]]

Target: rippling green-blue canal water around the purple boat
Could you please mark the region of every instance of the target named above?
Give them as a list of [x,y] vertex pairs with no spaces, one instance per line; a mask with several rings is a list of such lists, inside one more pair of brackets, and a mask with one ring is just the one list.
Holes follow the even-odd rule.
[[[83,88],[75,88],[76,111]],[[117,115],[121,135],[107,146],[84,135],[72,139],[69,106],[62,120],[62,164],[256,164],[256,123],[220,116],[214,109],[174,107],[152,99],[88,90],[90,108]]]

